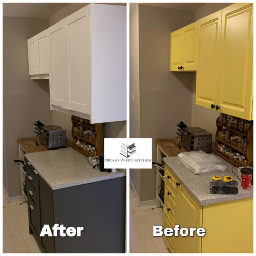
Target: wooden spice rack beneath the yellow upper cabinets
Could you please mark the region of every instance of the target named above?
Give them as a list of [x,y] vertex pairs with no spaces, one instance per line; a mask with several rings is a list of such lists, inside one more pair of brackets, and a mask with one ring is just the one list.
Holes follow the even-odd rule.
[[[216,134],[215,134],[215,154],[220,156],[221,158],[225,159],[229,163],[233,164],[236,167],[247,166],[253,162],[253,122],[247,123],[246,129],[242,129],[237,125],[233,125],[227,123],[225,121],[221,121],[219,118],[216,120]],[[236,133],[239,136],[247,137],[248,143],[246,148],[239,147],[236,142],[230,141],[229,139],[219,137],[219,131],[221,131],[222,127],[225,127],[228,131],[232,133]],[[228,147],[233,148],[234,151],[237,151],[243,154],[246,157],[246,163],[241,163],[237,161],[231,156],[227,156],[224,152],[218,150],[218,143],[224,144]]]

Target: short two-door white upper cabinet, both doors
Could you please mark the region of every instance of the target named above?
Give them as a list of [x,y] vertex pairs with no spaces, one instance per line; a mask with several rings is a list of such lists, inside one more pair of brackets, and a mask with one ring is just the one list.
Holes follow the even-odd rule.
[[29,75],[31,79],[49,78],[49,32],[48,30],[28,39]]

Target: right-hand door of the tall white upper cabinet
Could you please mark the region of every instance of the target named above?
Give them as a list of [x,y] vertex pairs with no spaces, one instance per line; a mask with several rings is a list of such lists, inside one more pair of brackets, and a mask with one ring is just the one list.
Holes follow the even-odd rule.
[[89,8],[82,8],[65,19],[68,57],[68,107],[90,115],[91,38]]

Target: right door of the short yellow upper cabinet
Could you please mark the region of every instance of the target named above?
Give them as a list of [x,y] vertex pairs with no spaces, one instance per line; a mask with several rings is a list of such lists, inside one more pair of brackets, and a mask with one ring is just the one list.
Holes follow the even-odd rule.
[[197,25],[198,22],[194,22],[182,29],[182,67],[184,68],[182,71],[196,70]]

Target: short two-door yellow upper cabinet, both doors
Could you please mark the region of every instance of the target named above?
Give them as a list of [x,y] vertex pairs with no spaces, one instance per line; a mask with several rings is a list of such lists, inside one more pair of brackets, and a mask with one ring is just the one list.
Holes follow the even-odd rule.
[[197,22],[170,34],[170,71],[196,70]]

